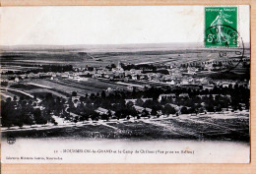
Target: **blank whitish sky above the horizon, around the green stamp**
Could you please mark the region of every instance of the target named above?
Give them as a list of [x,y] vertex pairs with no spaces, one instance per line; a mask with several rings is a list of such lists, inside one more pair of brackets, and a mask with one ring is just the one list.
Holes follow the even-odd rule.
[[[0,45],[203,42],[204,6],[1,7]],[[249,42],[249,6],[238,31]]]

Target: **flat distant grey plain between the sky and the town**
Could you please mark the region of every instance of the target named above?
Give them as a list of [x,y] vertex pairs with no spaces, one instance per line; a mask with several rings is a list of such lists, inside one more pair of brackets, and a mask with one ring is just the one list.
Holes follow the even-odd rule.
[[[175,48],[173,45],[158,45],[145,48],[142,45],[133,47],[123,47],[100,49],[97,47],[87,48],[58,48],[58,49],[30,49],[26,50],[4,50],[0,56],[2,66],[5,69],[21,70],[23,67],[33,67],[36,64],[71,64],[75,67],[97,66],[104,67],[112,63],[121,61],[123,63],[153,63],[153,64],[184,64],[205,61],[228,60],[235,51],[242,51],[241,48],[229,49],[205,49],[196,48],[193,45],[183,48]],[[191,48],[190,48],[191,47]],[[194,47],[194,48],[193,48]],[[189,49],[188,49],[189,48]],[[228,57],[220,57],[221,51],[227,51]],[[244,57],[250,57],[250,50],[244,50]],[[15,67],[19,68],[15,68]]]

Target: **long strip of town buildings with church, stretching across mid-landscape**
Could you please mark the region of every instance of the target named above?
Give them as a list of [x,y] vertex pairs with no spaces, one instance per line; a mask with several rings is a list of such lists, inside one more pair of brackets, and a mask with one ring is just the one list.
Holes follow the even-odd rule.
[[[199,74],[206,74],[211,72],[213,64],[204,64],[204,69],[200,69],[194,66],[177,67],[170,65],[155,66],[157,70],[149,70],[141,67],[137,69],[124,70],[122,64],[118,62],[116,67],[111,69],[107,67],[90,67],[90,68],[74,68],[72,72],[56,73],[37,73],[37,74],[23,74],[23,75],[4,75],[1,78],[3,81],[20,82],[24,79],[43,79],[50,78],[51,80],[58,80],[59,78],[71,79],[75,81],[88,81],[88,78],[105,79],[112,82],[129,82],[131,85],[133,82],[149,82],[150,85],[162,85],[162,86],[175,86],[175,87],[193,87],[193,88],[208,88],[211,89],[215,86],[228,87],[234,86],[236,81],[214,81],[211,78],[205,76],[197,76]],[[143,67],[143,66],[142,66]],[[161,73],[165,71],[165,73]],[[166,73],[167,72],[167,73]],[[213,73],[213,72],[212,72]],[[245,82],[248,86],[248,82]],[[249,86],[248,86],[249,87]],[[132,86],[127,89],[132,89]]]

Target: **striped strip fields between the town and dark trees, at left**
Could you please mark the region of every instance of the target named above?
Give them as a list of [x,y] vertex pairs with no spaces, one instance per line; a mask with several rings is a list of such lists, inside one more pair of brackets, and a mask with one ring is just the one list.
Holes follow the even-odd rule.
[[97,80],[89,78],[88,81],[78,82],[76,80],[70,79],[61,79],[50,80],[50,79],[32,79],[25,80],[23,83],[10,83],[10,89],[2,92],[3,99],[7,97],[24,96],[25,98],[30,98],[28,95],[25,95],[19,91],[24,91],[28,94],[35,94],[39,96],[40,93],[52,93],[53,95],[67,98],[71,95],[73,91],[76,91],[79,96],[85,95],[86,93],[96,93],[101,92],[102,90],[111,88],[126,88],[128,85],[119,85],[108,81]]

